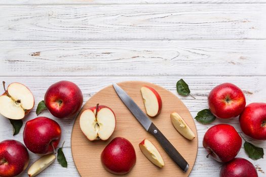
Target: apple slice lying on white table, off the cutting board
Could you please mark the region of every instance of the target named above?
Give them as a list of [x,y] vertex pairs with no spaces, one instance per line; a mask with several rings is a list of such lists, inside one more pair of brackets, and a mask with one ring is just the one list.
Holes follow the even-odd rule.
[[36,176],[37,174],[45,170],[55,161],[55,159],[56,156],[54,154],[48,154],[35,161],[28,169],[29,177]]

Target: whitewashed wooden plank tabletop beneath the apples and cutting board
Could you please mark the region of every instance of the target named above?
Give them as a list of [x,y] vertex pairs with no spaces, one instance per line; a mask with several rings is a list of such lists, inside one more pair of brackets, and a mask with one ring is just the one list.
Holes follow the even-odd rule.
[[[244,90],[247,103],[266,101],[266,0],[1,0],[1,81],[26,84],[37,103],[59,80],[77,83],[87,101],[112,82],[143,80],[176,94],[183,78],[196,97],[177,95],[195,117],[207,95],[222,82]],[[3,89],[1,89],[2,92]],[[58,121],[68,168],[55,162],[40,176],[79,176],[72,160],[73,120]],[[202,139],[217,123],[196,122],[199,151],[190,176],[218,176],[221,164],[206,158]],[[9,120],[0,119],[0,141],[15,139]],[[248,141],[264,148],[265,142]],[[247,158],[242,148],[238,157]],[[30,164],[39,156],[30,153]],[[249,159],[259,176],[266,161]],[[27,176],[26,172],[22,176]]]

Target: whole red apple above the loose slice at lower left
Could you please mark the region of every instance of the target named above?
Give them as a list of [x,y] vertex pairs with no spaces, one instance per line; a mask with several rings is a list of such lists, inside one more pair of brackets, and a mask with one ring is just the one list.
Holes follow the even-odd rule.
[[49,154],[56,149],[61,139],[60,125],[47,117],[37,117],[27,121],[23,140],[25,146],[36,154]]

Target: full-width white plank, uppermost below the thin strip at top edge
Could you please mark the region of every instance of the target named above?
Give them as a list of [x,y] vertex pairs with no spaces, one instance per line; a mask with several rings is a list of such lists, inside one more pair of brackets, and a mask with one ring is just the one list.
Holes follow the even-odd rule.
[[266,4],[0,6],[0,12],[0,40],[266,38]]

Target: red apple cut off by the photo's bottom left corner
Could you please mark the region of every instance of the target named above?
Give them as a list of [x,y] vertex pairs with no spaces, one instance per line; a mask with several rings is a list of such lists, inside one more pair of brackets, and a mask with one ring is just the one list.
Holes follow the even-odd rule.
[[16,140],[5,140],[0,143],[0,176],[19,175],[29,162],[26,147]]

